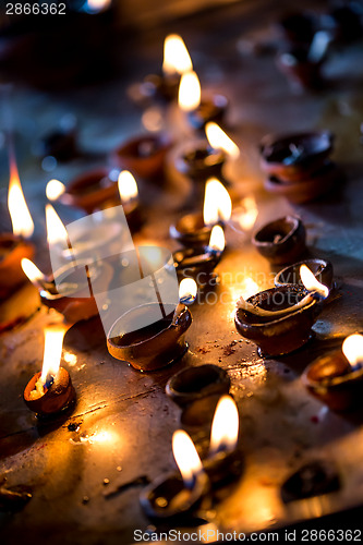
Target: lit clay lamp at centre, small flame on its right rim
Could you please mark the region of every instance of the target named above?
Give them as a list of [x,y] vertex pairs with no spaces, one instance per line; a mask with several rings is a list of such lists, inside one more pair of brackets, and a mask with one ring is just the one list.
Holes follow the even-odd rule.
[[[186,304],[194,302],[196,284],[191,278],[180,283],[180,302],[146,303],[118,318],[107,336],[109,353],[142,372],[165,367],[187,350],[185,332],[192,324]],[[186,303],[186,304],[185,304]],[[144,327],[141,325],[148,324]]]

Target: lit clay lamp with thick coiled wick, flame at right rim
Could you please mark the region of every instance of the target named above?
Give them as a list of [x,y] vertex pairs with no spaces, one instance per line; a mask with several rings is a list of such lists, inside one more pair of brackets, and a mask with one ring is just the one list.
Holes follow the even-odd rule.
[[304,287],[285,284],[241,298],[234,316],[237,330],[253,340],[262,354],[283,355],[305,344],[329,290],[302,265]]

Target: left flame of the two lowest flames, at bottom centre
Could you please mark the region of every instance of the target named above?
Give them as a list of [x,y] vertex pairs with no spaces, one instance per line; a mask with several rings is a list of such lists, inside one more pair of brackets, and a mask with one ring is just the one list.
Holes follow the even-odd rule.
[[203,465],[194,443],[186,432],[182,429],[174,432],[172,436],[172,452],[185,486],[191,488],[194,484],[195,475],[203,471]]

